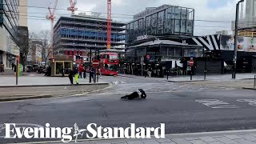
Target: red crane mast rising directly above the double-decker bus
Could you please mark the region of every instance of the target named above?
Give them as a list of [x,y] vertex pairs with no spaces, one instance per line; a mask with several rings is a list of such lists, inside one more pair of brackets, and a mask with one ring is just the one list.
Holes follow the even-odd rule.
[[111,0],[107,0],[107,50],[111,48]]

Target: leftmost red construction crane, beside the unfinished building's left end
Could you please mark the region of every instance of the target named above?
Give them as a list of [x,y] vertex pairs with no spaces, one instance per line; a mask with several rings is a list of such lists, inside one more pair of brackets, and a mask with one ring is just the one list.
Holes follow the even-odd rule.
[[53,10],[50,10],[50,7],[48,7],[48,10],[49,10],[49,14],[50,15],[47,15],[46,18],[50,20],[50,28],[51,28],[51,37],[50,37],[50,49],[48,50],[49,51],[49,58],[53,58],[53,38],[54,38],[54,19],[55,19],[55,10],[56,10],[56,6],[57,6],[57,3],[58,3],[58,0],[55,0],[55,4],[54,4],[54,8]]

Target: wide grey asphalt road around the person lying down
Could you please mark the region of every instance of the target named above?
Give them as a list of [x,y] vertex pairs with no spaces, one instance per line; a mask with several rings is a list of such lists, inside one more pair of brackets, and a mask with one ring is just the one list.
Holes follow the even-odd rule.
[[[19,102],[0,102],[0,124],[86,128],[98,126],[142,127],[166,124],[166,134],[220,130],[256,129],[254,90],[213,89],[145,78],[107,77],[108,89],[70,98],[45,98]],[[122,101],[120,97],[142,88],[145,100]],[[4,139],[0,125],[0,143],[32,142],[40,139]],[[59,139],[57,139],[59,140]],[[42,140],[46,141],[46,139]]]

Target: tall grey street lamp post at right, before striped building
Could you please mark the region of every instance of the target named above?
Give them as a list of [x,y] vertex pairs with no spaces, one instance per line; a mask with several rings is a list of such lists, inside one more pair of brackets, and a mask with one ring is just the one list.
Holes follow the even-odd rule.
[[232,78],[235,79],[236,76],[236,69],[237,69],[237,56],[238,56],[238,18],[239,18],[239,6],[241,2],[244,2],[245,0],[240,0],[237,3],[236,6],[236,15],[235,15],[235,26],[234,26],[234,69],[233,69],[233,74]]

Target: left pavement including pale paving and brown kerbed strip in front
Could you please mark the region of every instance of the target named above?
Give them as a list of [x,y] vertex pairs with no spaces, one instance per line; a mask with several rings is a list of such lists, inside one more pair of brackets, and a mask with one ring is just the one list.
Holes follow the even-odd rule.
[[98,82],[89,82],[89,78],[79,78],[79,85],[70,85],[67,77],[44,77],[44,74],[30,73],[18,77],[18,85],[14,76],[0,77],[0,102],[32,98],[65,97],[76,94],[105,89],[109,82],[99,78]]

